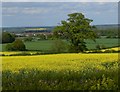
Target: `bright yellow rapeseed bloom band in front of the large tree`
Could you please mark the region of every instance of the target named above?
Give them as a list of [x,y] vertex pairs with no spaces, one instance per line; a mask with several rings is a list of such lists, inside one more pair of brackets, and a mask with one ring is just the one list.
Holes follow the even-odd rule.
[[2,58],[2,70],[40,69],[43,70],[82,70],[83,68],[98,68],[103,62],[118,62],[117,53],[104,54],[53,54],[36,56],[5,56]]

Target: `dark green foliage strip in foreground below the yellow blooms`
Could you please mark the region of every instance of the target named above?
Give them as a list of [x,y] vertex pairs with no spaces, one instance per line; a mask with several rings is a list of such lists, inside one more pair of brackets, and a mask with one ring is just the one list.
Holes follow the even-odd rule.
[[[114,69],[114,70],[113,70]],[[106,71],[91,68],[81,71],[3,71],[3,90],[118,90],[117,68]]]

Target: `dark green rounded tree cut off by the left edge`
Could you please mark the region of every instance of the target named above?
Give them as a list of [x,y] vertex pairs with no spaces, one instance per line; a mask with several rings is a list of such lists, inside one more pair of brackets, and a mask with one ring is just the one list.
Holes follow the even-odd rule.
[[2,32],[2,43],[12,43],[15,41],[14,35],[8,32]]

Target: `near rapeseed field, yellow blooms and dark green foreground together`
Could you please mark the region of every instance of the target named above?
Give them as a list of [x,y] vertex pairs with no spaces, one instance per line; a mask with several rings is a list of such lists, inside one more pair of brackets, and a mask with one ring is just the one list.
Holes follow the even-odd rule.
[[4,90],[117,90],[118,54],[2,57]]

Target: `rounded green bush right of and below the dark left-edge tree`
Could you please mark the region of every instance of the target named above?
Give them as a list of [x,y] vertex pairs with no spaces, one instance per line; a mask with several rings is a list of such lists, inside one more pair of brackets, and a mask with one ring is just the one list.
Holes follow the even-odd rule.
[[21,40],[17,39],[13,43],[7,44],[6,49],[8,51],[25,51],[26,47]]

